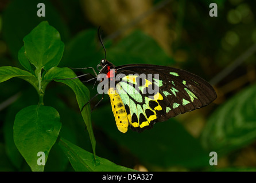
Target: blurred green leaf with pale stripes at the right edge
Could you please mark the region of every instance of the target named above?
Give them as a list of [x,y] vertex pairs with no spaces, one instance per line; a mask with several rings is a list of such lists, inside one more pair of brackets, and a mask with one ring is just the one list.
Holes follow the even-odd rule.
[[256,85],[247,87],[209,118],[201,142],[205,149],[228,153],[256,139]]

